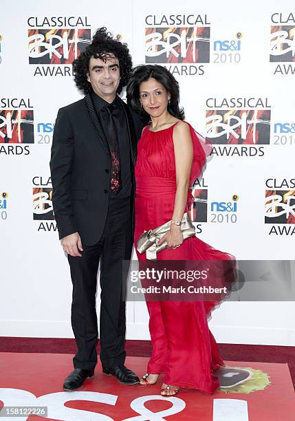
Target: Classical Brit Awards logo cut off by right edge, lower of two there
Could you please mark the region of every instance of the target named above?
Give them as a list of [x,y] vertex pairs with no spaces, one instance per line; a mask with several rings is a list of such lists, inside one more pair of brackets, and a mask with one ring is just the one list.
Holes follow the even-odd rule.
[[295,178],[265,182],[265,224],[271,224],[268,235],[295,234]]

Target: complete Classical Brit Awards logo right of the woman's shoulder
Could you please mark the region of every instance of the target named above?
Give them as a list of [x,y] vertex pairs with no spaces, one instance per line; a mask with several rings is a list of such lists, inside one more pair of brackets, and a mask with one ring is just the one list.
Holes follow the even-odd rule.
[[[217,156],[263,156],[270,144],[268,98],[208,98],[206,138]],[[221,146],[224,145],[224,146]]]

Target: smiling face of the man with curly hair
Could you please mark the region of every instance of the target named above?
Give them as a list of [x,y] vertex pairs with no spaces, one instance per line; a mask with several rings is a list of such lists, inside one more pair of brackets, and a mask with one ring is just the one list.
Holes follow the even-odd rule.
[[120,83],[120,67],[116,56],[109,54],[106,61],[92,56],[89,60],[88,82],[94,92],[107,102],[113,102]]

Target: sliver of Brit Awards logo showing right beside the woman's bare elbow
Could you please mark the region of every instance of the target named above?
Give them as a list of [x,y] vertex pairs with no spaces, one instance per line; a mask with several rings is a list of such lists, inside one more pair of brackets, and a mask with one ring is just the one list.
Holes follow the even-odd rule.
[[204,178],[197,179],[191,191],[193,195],[193,204],[190,206],[189,215],[192,222],[195,223],[196,233],[203,232],[203,223],[207,222],[208,212],[208,185]]

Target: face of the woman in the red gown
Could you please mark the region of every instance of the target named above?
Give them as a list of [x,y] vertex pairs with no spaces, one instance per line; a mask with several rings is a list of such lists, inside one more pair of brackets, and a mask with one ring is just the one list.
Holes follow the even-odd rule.
[[140,83],[140,102],[144,111],[151,117],[162,116],[167,109],[168,99],[170,99],[170,95],[162,83],[157,82],[154,78]]

